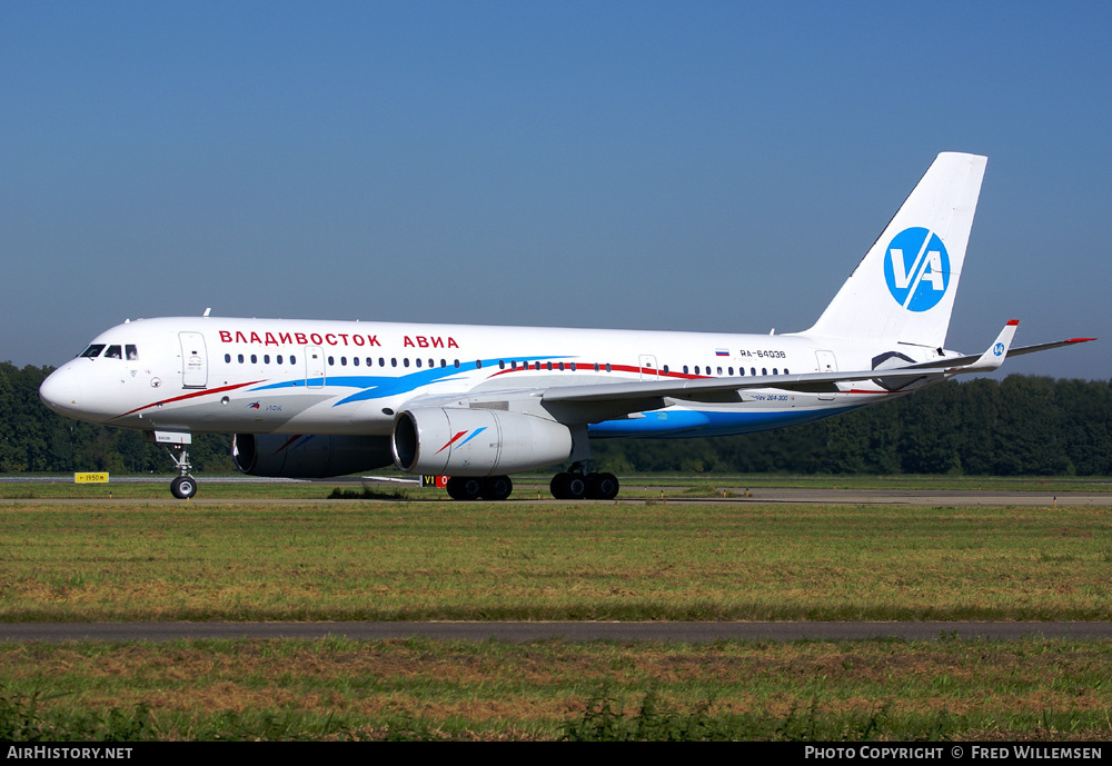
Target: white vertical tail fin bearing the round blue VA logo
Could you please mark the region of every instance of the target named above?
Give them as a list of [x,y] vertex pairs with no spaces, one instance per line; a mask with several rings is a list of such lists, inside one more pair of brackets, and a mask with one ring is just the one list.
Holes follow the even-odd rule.
[[985,162],[939,155],[803,335],[944,346]]

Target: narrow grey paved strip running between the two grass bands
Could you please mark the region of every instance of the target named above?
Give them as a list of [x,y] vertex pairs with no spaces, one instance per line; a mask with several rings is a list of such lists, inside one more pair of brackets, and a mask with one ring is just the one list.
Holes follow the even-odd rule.
[[0,624],[4,641],[168,641],[197,638],[686,641],[979,640],[1112,638],[1112,623],[26,623]]

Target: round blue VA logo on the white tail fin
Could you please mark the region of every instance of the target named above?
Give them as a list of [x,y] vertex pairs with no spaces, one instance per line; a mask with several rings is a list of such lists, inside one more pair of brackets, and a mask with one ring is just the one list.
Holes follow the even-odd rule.
[[884,279],[892,297],[909,311],[934,308],[950,287],[946,246],[929,229],[904,229],[888,242]]

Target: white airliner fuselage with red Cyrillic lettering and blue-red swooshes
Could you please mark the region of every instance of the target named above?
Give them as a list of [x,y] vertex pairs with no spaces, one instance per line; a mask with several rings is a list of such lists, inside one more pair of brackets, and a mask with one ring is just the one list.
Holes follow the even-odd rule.
[[[122,428],[388,435],[395,414],[415,399],[870,369],[877,355],[896,350],[873,346],[802,335],[173,317],[100,334],[88,356],[56,370],[41,392],[57,411]],[[940,356],[912,346],[898,351],[916,362]],[[592,422],[589,432],[742,434],[893,396],[871,380],[840,389],[770,387],[721,405],[666,399],[664,408]]]

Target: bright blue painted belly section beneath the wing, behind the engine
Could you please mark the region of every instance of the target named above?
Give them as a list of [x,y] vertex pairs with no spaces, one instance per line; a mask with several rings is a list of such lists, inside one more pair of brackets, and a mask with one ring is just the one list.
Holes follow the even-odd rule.
[[850,407],[830,407],[818,410],[792,410],[781,412],[724,412],[718,410],[694,411],[676,410],[666,412],[645,412],[643,418],[628,420],[604,420],[587,426],[587,432],[595,438],[643,438],[667,439],[689,438],[694,436],[729,436],[734,434],[753,434],[785,426],[795,426],[813,420],[822,420],[832,415],[857,409],[862,405]]

